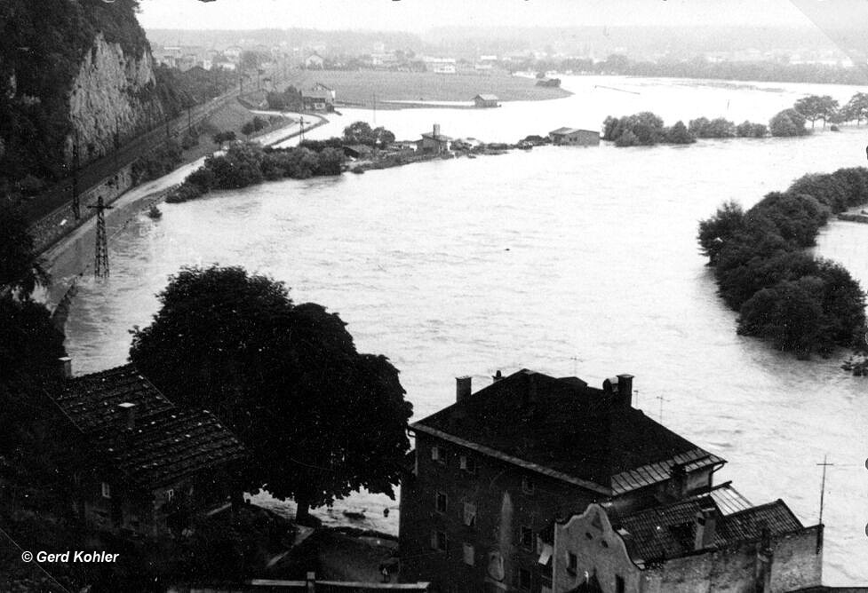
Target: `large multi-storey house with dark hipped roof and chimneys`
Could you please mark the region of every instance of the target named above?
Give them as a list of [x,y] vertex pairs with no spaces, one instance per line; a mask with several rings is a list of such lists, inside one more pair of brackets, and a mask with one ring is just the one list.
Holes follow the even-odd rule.
[[411,425],[401,490],[402,579],[440,591],[551,591],[555,519],[708,492],[725,463],[635,409],[630,375],[521,370],[475,393],[461,377],[456,399]]

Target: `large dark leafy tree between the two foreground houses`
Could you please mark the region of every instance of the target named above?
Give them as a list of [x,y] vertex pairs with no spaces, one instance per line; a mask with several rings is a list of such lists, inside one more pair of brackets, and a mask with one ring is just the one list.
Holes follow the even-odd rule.
[[394,496],[412,406],[384,356],[356,352],[337,314],[294,304],[239,267],[183,268],[130,359],[179,406],[208,407],[251,450],[248,485],[310,506]]

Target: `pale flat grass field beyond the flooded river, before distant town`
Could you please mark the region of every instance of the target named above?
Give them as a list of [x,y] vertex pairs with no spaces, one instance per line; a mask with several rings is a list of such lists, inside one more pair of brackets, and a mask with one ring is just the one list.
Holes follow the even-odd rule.
[[[384,100],[469,101],[479,93],[490,93],[501,101],[559,99],[569,91],[540,87],[536,81],[506,73],[440,75],[432,72],[379,72],[363,70],[299,70],[283,85],[309,89],[323,83],[337,91],[338,104],[370,106],[376,94]],[[386,108],[386,106],[382,106]]]

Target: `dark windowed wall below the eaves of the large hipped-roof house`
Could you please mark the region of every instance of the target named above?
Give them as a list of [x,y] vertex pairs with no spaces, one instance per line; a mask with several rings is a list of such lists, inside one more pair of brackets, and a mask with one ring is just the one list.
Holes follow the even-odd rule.
[[539,534],[593,498],[423,433],[414,473],[401,488],[402,581],[431,581],[441,593],[550,591]]

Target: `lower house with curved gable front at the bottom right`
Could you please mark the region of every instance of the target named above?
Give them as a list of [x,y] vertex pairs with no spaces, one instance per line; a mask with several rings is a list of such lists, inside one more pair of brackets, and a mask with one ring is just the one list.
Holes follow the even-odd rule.
[[554,526],[553,590],[601,593],[792,591],[819,585],[821,526],[783,501],[751,506],[709,494],[633,513],[608,503]]

